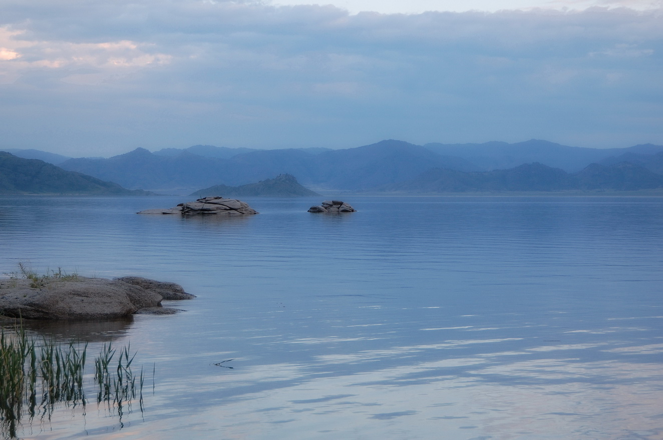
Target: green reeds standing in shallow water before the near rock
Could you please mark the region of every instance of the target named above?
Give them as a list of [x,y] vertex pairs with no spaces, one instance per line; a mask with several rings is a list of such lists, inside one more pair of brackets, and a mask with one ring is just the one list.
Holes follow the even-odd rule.
[[[115,357],[117,352],[117,357]],[[23,328],[0,332],[0,433],[15,438],[25,418],[29,423],[40,415],[50,419],[60,406],[85,408],[86,385],[97,390],[97,404],[131,412],[139,401],[143,412],[145,376],[131,371],[136,353],[129,345],[116,350],[103,345],[94,359],[94,379],[86,381],[87,343],[62,343],[46,337],[28,335]],[[115,357],[115,363],[113,362]]]

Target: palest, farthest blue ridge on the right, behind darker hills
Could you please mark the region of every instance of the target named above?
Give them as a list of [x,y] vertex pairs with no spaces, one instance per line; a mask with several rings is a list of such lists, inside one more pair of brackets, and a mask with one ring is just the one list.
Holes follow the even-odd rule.
[[507,144],[506,142],[426,144],[425,147],[438,154],[462,157],[487,171],[509,169],[522,163],[540,162],[549,167],[561,168],[567,172],[576,172],[589,165],[589,163],[599,162],[613,155],[627,152],[652,154],[663,151],[663,146],[652,144],[630,148],[599,149],[570,147],[536,139],[516,144]]

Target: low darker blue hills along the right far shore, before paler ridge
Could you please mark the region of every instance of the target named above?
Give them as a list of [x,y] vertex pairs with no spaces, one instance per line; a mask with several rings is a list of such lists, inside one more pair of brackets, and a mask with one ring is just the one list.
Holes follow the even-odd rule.
[[410,181],[380,187],[379,191],[463,193],[467,191],[638,191],[656,188],[663,188],[663,175],[633,163],[621,162],[609,167],[593,163],[573,174],[541,163],[471,173],[435,168]]

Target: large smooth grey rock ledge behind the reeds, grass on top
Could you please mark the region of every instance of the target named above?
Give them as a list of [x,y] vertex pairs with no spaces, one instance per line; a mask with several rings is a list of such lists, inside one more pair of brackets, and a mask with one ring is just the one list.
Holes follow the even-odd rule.
[[40,288],[31,287],[30,283],[29,279],[0,280],[0,317],[95,320],[136,313],[172,314],[177,309],[164,308],[162,300],[196,297],[175,283],[141,277],[54,279],[46,281]]

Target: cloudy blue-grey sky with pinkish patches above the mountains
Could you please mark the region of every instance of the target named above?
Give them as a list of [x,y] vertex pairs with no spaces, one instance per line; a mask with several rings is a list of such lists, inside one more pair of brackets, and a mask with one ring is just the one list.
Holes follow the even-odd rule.
[[0,149],[663,144],[663,2],[0,0]]

